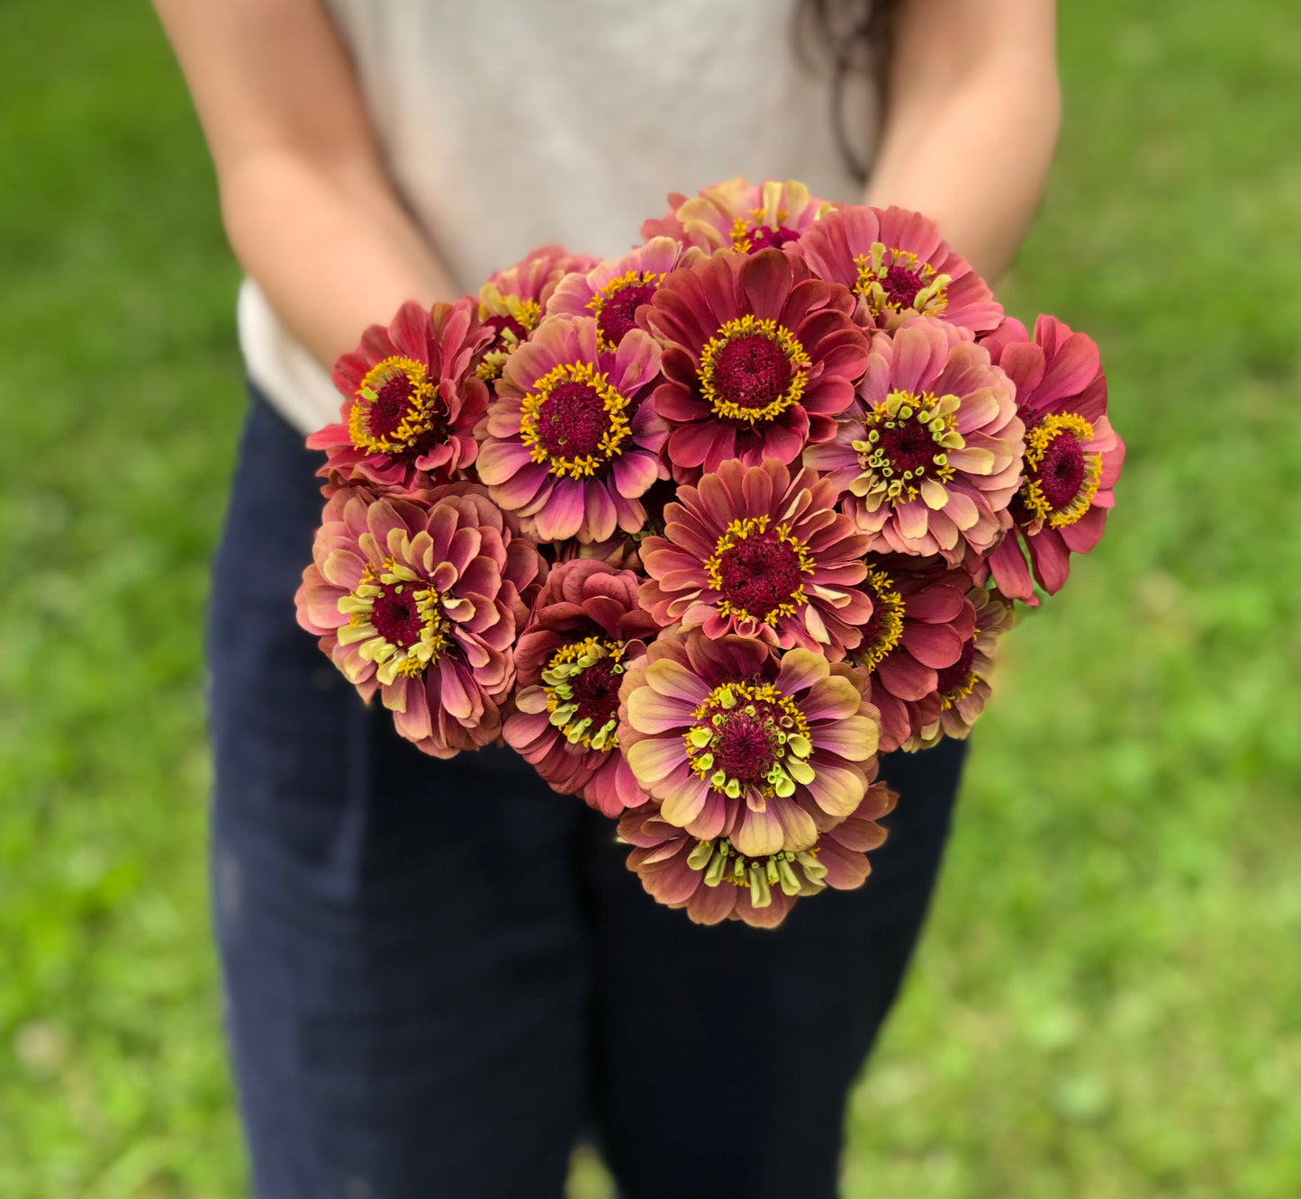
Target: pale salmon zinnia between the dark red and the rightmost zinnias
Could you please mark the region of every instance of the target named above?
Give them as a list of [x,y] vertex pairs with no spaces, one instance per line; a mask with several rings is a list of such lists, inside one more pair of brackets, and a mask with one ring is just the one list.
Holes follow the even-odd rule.
[[873,339],[861,412],[804,462],[826,471],[877,553],[986,553],[1021,482],[1012,385],[989,351],[938,321]]

